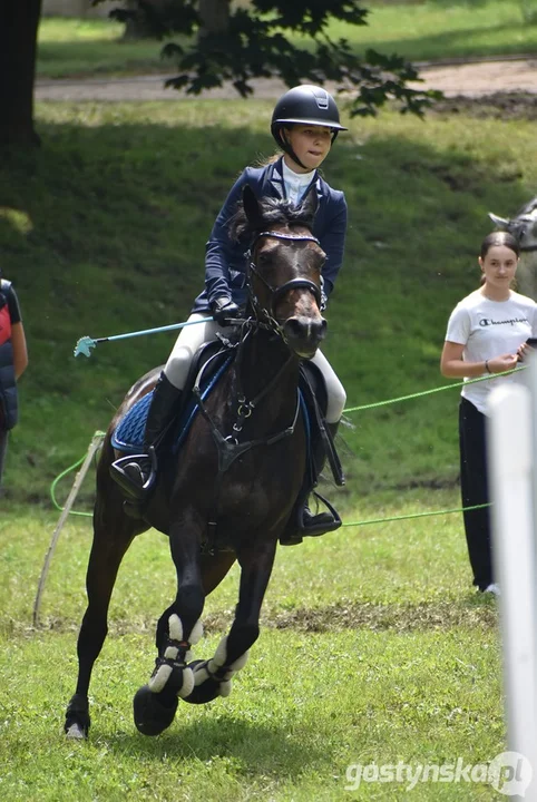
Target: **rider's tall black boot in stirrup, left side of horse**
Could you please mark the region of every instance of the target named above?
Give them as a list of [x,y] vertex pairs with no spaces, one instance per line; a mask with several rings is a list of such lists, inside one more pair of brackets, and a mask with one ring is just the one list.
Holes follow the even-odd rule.
[[113,479],[136,501],[146,501],[153,490],[157,473],[155,449],[178,410],[183,390],[174,387],[164,372],[160,373],[147,413],[145,453],[121,457],[110,466]]

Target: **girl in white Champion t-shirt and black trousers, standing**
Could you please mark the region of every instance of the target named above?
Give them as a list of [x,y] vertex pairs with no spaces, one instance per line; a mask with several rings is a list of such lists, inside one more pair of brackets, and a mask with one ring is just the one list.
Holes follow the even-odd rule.
[[[507,232],[492,232],[481,244],[481,286],[462,299],[448,323],[440,370],[451,379],[491,376],[517,366],[528,338],[537,336],[537,304],[511,288],[520,248]],[[488,394],[497,382],[520,381],[520,373],[465,384],[459,407],[462,506],[489,502],[486,452]],[[463,512],[473,584],[498,595],[494,580],[488,507]]]

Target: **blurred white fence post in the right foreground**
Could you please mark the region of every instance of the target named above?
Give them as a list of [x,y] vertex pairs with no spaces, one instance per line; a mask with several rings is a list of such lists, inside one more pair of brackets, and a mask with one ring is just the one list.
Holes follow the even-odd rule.
[[[528,373],[537,372],[534,359]],[[537,802],[537,565],[533,503],[537,454],[531,409],[536,405],[537,395],[528,387],[499,384],[490,393],[487,421],[492,555],[501,590],[498,603],[508,750],[524,755],[531,766],[527,802]]]

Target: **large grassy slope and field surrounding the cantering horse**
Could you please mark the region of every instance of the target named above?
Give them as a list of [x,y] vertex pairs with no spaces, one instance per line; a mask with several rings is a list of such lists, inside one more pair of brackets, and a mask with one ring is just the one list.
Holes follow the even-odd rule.
[[[348,526],[280,550],[262,636],[230,700],[182,705],[156,740],[135,731],[131,697],[174,593],[167,542],[146,534],[113,598],[90,741],[61,734],[90,525],[69,519],[33,632],[58,518],[50,483],[133,381],[166,359],[174,335],[102,343],[89,360],[72,349],[82,335],[184,320],[233,176],[273,151],[270,113],[260,100],[39,104],[43,147],[2,165],[2,270],[16,282],[30,353],[0,517],[0,796],[9,802],[497,799],[484,782],[418,783],[411,795],[394,783],[345,790],[351,764],[477,764],[505,747],[497,612],[471,588],[460,516],[351,524],[459,506],[458,390],[420,393],[448,384],[438,371],[446,323],[478,284],[487,213],[509,215],[534,194],[535,125],[520,119],[387,111],[349,121],[325,169],[350,206],[325,350],[350,408],[416,398],[349,413],[348,485],[326,491]],[[77,509],[91,499],[89,477]],[[208,599],[199,656],[228,626],[236,585],[233,570]]]

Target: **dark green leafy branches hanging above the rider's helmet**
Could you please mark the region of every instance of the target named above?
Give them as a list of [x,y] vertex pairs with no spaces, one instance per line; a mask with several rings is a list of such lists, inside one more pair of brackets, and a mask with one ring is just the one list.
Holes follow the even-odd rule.
[[[95,3],[101,0],[94,0]],[[199,95],[231,81],[237,92],[253,92],[253,78],[281,78],[287,86],[334,81],[354,97],[351,115],[372,115],[389,99],[402,111],[422,114],[439,92],[408,87],[419,79],[403,58],[374,50],[357,58],[345,39],[328,33],[332,19],[367,25],[361,0],[129,0],[128,9],[111,12],[116,19],[152,30],[158,39],[179,35],[163,56],[173,59],[179,74],[168,86]],[[306,43],[297,46],[291,36]]]

